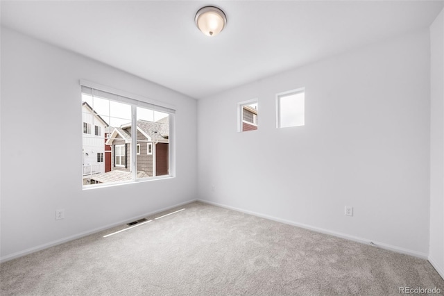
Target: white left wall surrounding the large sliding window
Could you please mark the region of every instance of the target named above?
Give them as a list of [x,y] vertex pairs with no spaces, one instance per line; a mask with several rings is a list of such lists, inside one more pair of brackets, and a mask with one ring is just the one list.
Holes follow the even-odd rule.
[[[82,190],[79,79],[176,106],[176,178]],[[195,199],[196,161],[196,100],[2,28],[3,260]]]

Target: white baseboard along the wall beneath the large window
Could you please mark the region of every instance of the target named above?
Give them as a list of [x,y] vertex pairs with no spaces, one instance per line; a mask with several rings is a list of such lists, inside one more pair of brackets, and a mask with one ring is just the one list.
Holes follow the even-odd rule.
[[15,253],[12,253],[12,254],[9,254],[9,255],[1,257],[0,258],[0,263],[6,262],[6,261],[10,261],[12,259],[19,258],[19,257],[25,256],[25,255],[28,255],[28,254],[31,254],[31,253],[34,253],[34,252],[38,252],[38,251],[41,251],[42,249],[47,249],[47,248],[53,247],[55,245],[60,245],[60,244],[65,243],[65,242],[69,242],[70,240],[76,240],[77,238],[83,238],[84,236],[89,236],[90,234],[94,234],[94,233],[97,233],[97,232],[100,232],[100,231],[104,231],[104,230],[110,229],[112,227],[117,227],[119,225],[126,224],[126,223],[131,222],[131,221],[139,220],[139,219],[142,219],[143,217],[148,217],[148,216],[151,216],[151,215],[155,215],[157,213],[161,213],[161,212],[164,212],[164,211],[169,211],[169,210],[171,210],[171,208],[176,208],[178,206],[183,206],[184,204],[189,204],[191,202],[196,202],[196,201],[197,201],[197,199],[191,199],[191,200],[189,200],[187,202],[181,202],[180,204],[176,204],[174,206],[168,206],[167,208],[160,208],[159,210],[152,211],[152,212],[146,213],[144,215],[139,215],[137,217],[131,217],[128,220],[123,220],[123,221],[115,222],[115,223],[112,223],[112,224],[105,225],[103,227],[98,227],[98,228],[95,228],[95,229],[91,229],[89,231],[84,231],[84,232],[81,232],[81,233],[74,234],[74,236],[67,236],[66,238],[61,238],[60,240],[53,240],[51,242],[47,242],[45,244],[38,245],[36,247],[31,247],[29,249],[24,249],[23,251],[15,252]]

